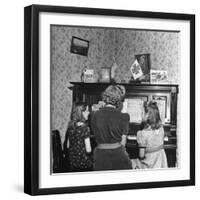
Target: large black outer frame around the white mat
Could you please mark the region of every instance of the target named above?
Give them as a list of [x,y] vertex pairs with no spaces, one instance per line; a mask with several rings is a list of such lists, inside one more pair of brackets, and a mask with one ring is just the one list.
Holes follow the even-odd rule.
[[[39,14],[140,17],[187,20],[190,23],[190,171],[189,179],[161,182],[123,183],[80,187],[39,187]],[[24,192],[30,195],[161,188],[195,185],[195,15],[82,7],[31,5],[24,8]]]

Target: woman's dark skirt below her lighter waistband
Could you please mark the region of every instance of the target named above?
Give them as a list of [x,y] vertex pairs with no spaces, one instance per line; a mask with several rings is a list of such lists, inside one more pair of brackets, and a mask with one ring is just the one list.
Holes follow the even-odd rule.
[[131,160],[124,146],[116,149],[94,150],[94,170],[132,169]]

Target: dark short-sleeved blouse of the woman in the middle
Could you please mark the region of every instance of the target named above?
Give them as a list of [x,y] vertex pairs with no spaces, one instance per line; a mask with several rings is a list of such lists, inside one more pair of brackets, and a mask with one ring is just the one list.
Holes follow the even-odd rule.
[[113,107],[103,107],[91,117],[91,127],[97,144],[121,142],[128,134],[129,115]]

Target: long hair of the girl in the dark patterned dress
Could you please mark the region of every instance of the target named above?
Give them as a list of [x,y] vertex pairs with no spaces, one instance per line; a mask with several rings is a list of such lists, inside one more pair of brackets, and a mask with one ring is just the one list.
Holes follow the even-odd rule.
[[76,122],[85,121],[83,112],[86,110],[86,107],[87,106],[84,103],[73,104],[69,126],[74,126]]

